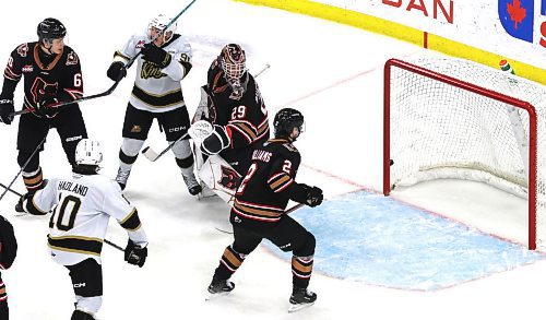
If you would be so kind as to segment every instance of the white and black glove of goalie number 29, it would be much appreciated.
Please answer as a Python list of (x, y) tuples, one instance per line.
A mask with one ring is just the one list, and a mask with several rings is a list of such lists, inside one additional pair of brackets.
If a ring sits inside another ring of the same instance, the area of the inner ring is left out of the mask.
[(188, 132), (197, 144), (201, 144), (201, 151), (207, 155), (218, 154), (232, 143), (224, 127), (217, 125), (213, 127), (205, 120), (199, 120), (191, 125)]

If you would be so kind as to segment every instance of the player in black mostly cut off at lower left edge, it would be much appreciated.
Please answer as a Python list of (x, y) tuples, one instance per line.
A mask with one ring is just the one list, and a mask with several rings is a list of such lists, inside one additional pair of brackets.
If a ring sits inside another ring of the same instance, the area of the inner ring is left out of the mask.
[[(17, 254), (17, 240), (11, 223), (0, 215), (0, 270), (7, 270)], [(0, 276), (0, 319), (9, 319), (8, 294)]]

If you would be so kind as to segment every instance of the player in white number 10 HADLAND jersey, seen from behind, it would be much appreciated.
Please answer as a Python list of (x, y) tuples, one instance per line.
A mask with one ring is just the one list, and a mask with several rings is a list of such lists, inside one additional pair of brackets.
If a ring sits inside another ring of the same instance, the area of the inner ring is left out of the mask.
[(48, 246), (52, 259), (70, 271), (76, 300), (71, 320), (93, 320), (100, 308), (100, 251), (110, 216), (129, 234), (124, 260), (142, 266), (147, 256), (147, 238), (136, 209), (116, 181), (98, 174), (102, 159), (97, 141), (81, 140), (72, 177), (49, 179), (44, 189), (25, 194), (23, 201), (31, 214), (51, 212)]

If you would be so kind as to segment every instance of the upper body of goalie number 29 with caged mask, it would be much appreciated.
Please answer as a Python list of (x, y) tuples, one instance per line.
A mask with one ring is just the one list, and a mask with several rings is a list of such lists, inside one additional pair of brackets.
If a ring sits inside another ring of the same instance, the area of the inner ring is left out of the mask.
[(246, 68), (245, 50), (226, 45), (212, 62), (207, 83), (193, 118), (214, 125), (214, 134), (202, 143), (205, 154), (219, 154), (239, 174), (246, 173), (250, 153), (270, 138), (269, 118), (254, 78)]

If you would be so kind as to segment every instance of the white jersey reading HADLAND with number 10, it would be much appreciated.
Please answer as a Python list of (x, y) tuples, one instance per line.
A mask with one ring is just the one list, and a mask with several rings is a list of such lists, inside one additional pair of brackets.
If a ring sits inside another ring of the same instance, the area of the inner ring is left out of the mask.
[(32, 214), (51, 211), (48, 245), (52, 259), (63, 265), (87, 258), (100, 263), (110, 216), (127, 229), (133, 242), (147, 245), (136, 209), (123, 198), (117, 182), (98, 174), (50, 179), (24, 205)]

